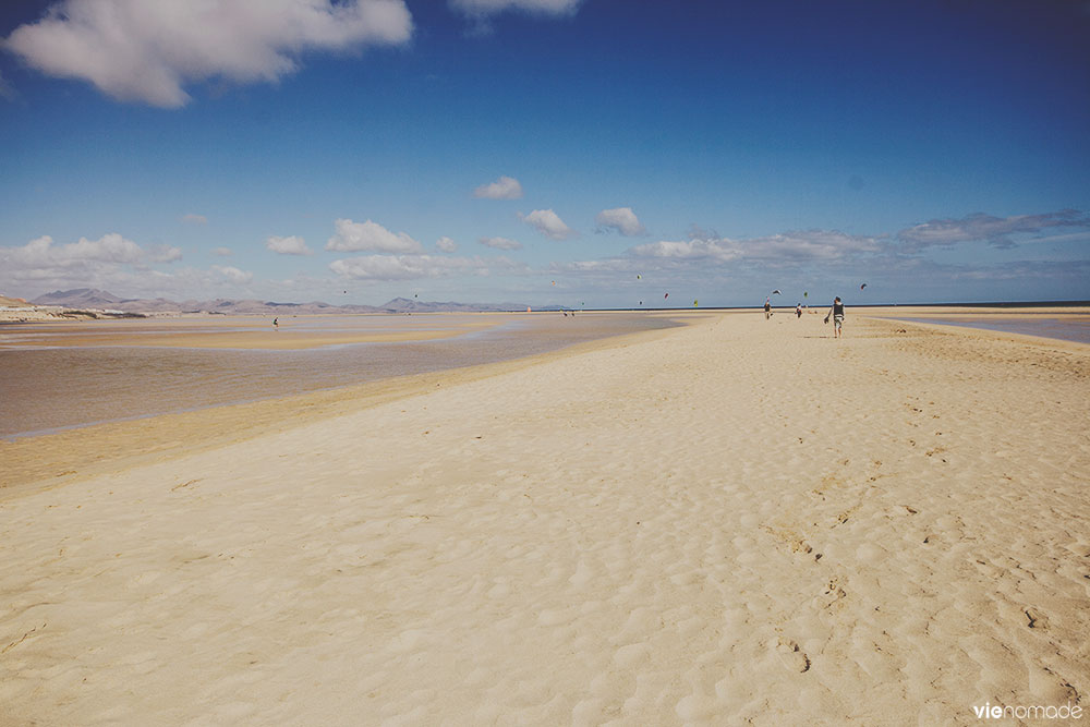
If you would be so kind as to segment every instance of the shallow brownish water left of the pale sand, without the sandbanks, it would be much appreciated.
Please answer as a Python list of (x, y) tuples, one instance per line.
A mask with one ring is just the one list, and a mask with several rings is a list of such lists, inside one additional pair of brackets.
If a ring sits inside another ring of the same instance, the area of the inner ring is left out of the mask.
[[(374, 326), (387, 330), (435, 330), (464, 325), (467, 316), (368, 316), (371, 320), (302, 318), (315, 329)], [(100, 323), (100, 322), (95, 322)], [(117, 322), (119, 324), (124, 322)], [(245, 323), (245, 322), (244, 322)], [(216, 329), (231, 322), (216, 322)], [(267, 326), (263, 322), (261, 325)], [(150, 416), (204, 407), (329, 389), (393, 376), (422, 374), (519, 359), (622, 334), (667, 328), (646, 314), (557, 314), (502, 318), (497, 326), (453, 338), (396, 343), (352, 343), (303, 350), (194, 349), (137, 346), (49, 347), (0, 350), (0, 436), (12, 438), (98, 422)], [(245, 326), (243, 326), (245, 327)], [(29, 327), (28, 327), (29, 328)], [(41, 326), (36, 328), (40, 329)], [(101, 326), (92, 330), (133, 336), (175, 326)], [(88, 327), (80, 326), (80, 335)], [(38, 335), (17, 326), (9, 337)]]

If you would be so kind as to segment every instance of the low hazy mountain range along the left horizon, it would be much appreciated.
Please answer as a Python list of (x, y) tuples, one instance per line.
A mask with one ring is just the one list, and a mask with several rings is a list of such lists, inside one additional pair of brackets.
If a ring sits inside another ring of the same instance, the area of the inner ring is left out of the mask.
[(170, 301), (165, 298), (123, 299), (105, 290), (78, 288), (56, 290), (32, 301), (35, 305), (60, 305), (69, 308), (124, 311), (126, 313), (220, 313), (223, 315), (314, 315), (317, 313), (447, 313), (477, 311), (525, 311), (524, 303), (456, 303), (425, 302), (395, 298), (385, 305), (330, 305), (310, 303), (276, 303), (257, 300)]

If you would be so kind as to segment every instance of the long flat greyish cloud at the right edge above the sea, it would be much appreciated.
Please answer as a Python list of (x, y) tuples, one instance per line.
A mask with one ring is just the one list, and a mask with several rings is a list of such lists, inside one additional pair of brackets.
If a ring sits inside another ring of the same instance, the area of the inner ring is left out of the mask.
[(1029, 234), (1042, 230), (1078, 227), (1090, 229), (1090, 216), (1075, 209), (1064, 209), (1043, 215), (1016, 215), (993, 217), (983, 213), (960, 219), (935, 219), (916, 225), (897, 233), (897, 239), (909, 252), (927, 247), (952, 247), (960, 242), (983, 241), (994, 247), (1015, 247), (1014, 234)]

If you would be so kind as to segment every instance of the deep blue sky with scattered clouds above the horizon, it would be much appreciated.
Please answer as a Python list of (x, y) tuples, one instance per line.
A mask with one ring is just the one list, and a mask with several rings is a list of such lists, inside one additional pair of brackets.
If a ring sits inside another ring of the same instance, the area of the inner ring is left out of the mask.
[(1087, 2), (197, 7), (0, 9), (0, 292), (1090, 299)]

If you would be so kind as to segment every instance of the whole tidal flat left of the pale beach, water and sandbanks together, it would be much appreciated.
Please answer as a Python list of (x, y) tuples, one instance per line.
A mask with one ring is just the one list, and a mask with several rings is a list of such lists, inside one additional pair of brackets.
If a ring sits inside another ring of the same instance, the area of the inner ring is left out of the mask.
[(300, 316), (279, 331), (253, 316), (4, 327), (0, 436), (283, 398), (669, 325), (666, 315), (588, 313)]

